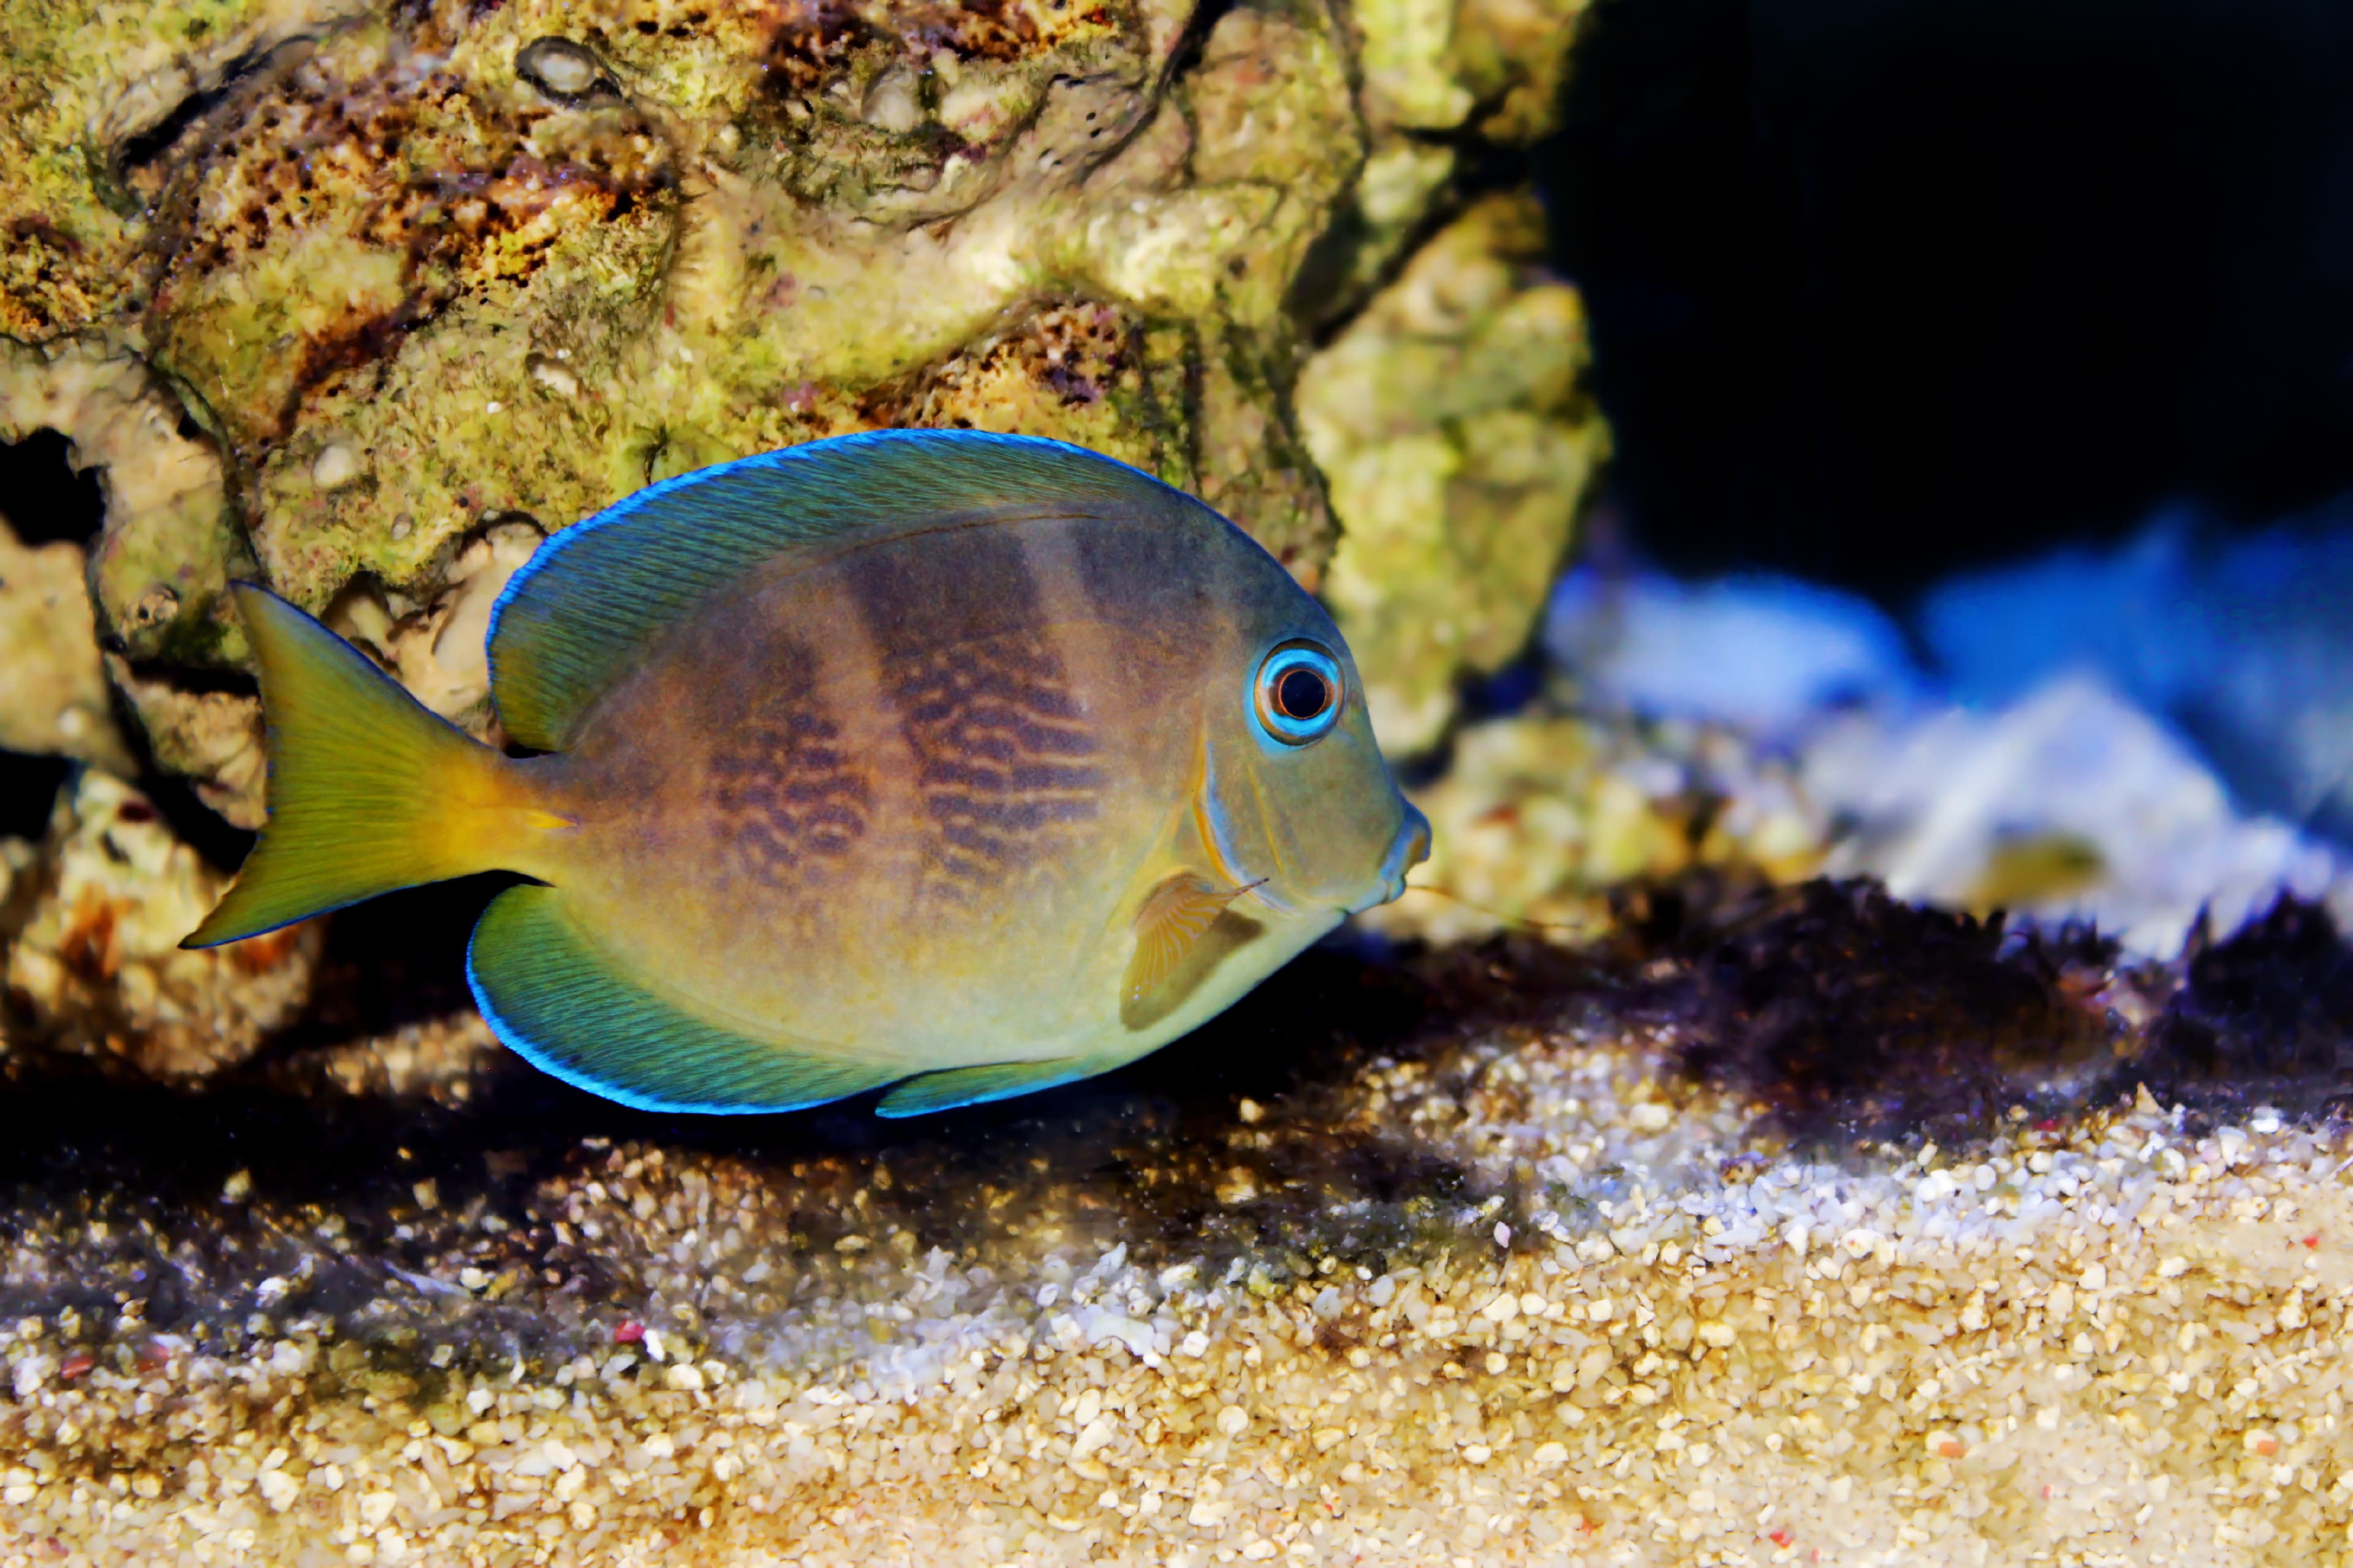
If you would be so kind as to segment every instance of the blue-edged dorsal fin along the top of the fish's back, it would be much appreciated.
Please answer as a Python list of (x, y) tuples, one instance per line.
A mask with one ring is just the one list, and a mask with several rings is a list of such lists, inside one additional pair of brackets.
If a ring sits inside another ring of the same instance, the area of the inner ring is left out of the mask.
[(1082, 447), (984, 430), (838, 435), (664, 480), (555, 534), (499, 595), (499, 719), (522, 745), (562, 750), (671, 625), (793, 550), (1106, 508), (1200, 503)]

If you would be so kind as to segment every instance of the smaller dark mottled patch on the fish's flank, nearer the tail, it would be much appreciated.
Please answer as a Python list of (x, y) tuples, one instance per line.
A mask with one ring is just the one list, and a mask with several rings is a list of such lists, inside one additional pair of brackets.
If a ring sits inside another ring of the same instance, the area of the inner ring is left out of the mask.
[(746, 870), (781, 884), (866, 832), (873, 785), (816, 689), (816, 654), (781, 642), (711, 752), (711, 799)]

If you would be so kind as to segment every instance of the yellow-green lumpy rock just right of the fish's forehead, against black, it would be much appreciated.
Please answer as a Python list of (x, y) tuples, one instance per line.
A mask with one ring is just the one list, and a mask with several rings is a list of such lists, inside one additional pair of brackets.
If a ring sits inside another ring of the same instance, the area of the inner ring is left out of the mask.
[(1435, 743), (1457, 679), (1527, 644), (1607, 449), (1584, 310), (1541, 249), (1532, 200), (1480, 202), (1299, 383), (1346, 529), (1325, 592), (1393, 752)]

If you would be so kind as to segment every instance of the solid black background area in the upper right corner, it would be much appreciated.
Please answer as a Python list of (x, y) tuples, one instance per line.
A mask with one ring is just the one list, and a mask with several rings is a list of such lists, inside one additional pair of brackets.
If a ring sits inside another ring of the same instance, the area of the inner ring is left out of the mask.
[(1539, 153), (1668, 569), (1901, 597), (2353, 487), (2353, 12), (1605, 0)]

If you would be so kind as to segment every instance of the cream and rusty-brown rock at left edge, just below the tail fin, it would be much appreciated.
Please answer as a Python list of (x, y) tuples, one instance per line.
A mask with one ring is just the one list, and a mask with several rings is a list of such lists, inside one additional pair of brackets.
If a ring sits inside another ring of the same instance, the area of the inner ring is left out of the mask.
[(228, 877), (181, 844), (155, 806), (85, 771), (35, 856), (16, 856), (0, 910), (14, 929), (0, 1011), (7, 1051), (45, 1046), (151, 1077), (202, 1077), (254, 1053), (308, 994), (320, 929), (289, 926), (181, 952)]

